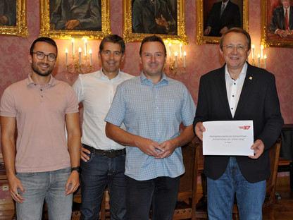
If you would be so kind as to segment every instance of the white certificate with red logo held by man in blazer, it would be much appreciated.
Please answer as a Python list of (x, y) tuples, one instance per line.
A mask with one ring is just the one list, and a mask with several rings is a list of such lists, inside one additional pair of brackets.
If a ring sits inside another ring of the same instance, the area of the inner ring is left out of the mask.
[(254, 144), (252, 121), (206, 121), (203, 125), (204, 155), (254, 155), (250, 149)]

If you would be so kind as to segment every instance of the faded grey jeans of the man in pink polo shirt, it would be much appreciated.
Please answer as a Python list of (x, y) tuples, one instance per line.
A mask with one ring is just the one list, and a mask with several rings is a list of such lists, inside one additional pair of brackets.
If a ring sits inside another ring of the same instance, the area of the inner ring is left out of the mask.
[(71, 168), (39, 173), (16, 173), (23, 184), (25, 194), (18, 193), (25, 199), (23, 204), (16, 204), (18, 220), (40, 220), (43, 204), (46, 200), (50, 220), (70, 220), (73, 194), (65, 195), (66, 182)]

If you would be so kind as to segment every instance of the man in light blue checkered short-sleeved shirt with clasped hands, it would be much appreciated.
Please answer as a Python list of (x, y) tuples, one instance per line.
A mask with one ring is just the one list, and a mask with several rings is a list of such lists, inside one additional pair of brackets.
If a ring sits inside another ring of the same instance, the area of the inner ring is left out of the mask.
[(161, 37), (144, 38), (139, 54), (142, 74), (118, 85), (105, 119), (106, 135), (126, 146), (127, 219), (148, 220), (151, 207), (152, 219), (167, 220), (173, 218), (185, 172), (180, 146), (194, 138), (196, 106), (185, 85), (163, 73)]

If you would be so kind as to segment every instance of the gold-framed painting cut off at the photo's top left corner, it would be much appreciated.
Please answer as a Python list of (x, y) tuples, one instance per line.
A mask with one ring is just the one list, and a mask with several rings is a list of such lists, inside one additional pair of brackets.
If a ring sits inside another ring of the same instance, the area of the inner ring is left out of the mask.
[(0, 17), (5, 16), (5, 24), (0, 24), (0, 35), (29, 36), (27, 31), (26, 0), (3, 1), (0, 9), (4, 13), (3, 15), (0, 14)]

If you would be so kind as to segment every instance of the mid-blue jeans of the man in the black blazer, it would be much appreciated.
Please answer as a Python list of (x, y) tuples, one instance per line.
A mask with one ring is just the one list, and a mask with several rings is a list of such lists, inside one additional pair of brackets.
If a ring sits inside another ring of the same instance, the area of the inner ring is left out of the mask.
[(235, 157), (230, 157), (223, 176), (216, 181), (208, 178), (208, 219), (232, 219), (235, 193), (239, 219), (262, 219), (266, 181), (249, 183), (242, 176)]

